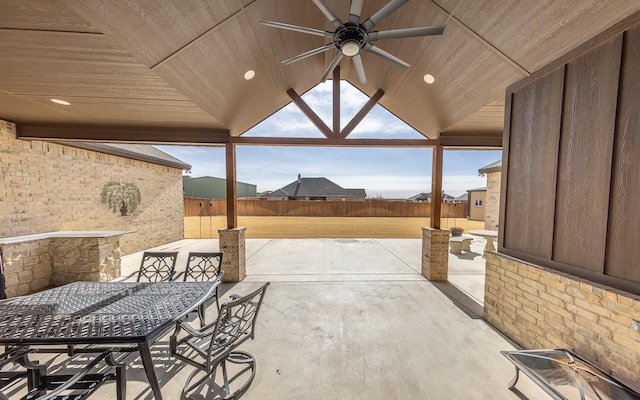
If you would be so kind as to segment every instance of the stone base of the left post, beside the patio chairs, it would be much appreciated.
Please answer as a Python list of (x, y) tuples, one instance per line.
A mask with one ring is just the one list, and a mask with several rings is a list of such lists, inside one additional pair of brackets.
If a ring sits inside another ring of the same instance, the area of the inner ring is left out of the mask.
[(240, 282), (247, 276), (247, 256), (245, 252), (246, 228), (220, 229), (220, 251), (222, 258), (222, 282)]

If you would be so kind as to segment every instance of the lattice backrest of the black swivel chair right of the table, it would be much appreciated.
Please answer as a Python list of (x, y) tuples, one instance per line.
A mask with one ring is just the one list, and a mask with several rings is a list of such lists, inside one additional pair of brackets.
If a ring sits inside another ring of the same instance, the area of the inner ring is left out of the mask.
[(269, 282), (257, 290), (244, 295), (232, 295), (231, 301), (220, 306), (218, 320), (209, 344), (209, 365), (215, 365), (219, 358), (248, 339), (253, 339), (258, 312)]

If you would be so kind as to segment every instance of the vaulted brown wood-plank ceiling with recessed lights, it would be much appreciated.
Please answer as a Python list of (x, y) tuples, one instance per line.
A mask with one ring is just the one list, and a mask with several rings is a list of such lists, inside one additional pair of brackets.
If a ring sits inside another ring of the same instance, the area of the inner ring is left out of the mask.
[[(348, 1), (327, 3), (347, 19)], [(386, 3), (364, 0), (363, 17)], [(239, 136), (288, 104), (287, 90), (313, 88), (334, 55), (282, 65), (325, 39), (258, 23), (333, 30), (311, 0), (0, 0), (0, 9), (0, 119), (18, 127)], [(425, 137), (480, 144), (502, 134), (508, 85), (639, 10), (640, 0), (413, 0), (376, 29), (446, 25), (444, 34), (377, 42), (406, 71), (365, 53), (368, 82), (347, 57), (342, 77), (369, 96), (382, 89), (380, 104)]]

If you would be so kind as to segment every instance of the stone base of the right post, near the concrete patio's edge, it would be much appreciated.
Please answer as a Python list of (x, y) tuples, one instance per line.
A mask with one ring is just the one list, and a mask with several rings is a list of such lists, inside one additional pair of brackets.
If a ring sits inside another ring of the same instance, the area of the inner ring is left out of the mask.
[(446, 281), (449, 273), (449, 230), (422, 228), (422, 276)]

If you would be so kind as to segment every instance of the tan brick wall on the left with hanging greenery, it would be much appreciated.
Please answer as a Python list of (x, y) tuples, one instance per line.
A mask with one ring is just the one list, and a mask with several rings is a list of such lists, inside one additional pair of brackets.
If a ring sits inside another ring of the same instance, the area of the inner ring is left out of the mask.
[[(122, 237), (123, 254), (184, 237), (182, 171), (70, 146), (17, 140), (0, 120), (0, 237), (51, 231), (135, 230)], [(109, 181), (138, 185), (133, 215), (100, 202)]]

